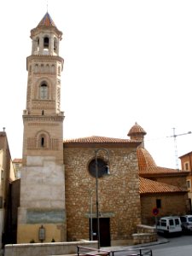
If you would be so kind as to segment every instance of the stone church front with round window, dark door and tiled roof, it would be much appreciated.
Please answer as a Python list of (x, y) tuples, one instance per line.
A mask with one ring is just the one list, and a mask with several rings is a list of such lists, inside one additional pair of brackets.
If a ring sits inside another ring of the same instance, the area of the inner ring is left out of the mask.
[[(91, 230), (93, 240), (97, 240), (98, 190), (101, 246), (131, 244), (131, 235), (141, 224), (138, 144), (108, 137), (64, 141), (68, 241), (91, 240)], [(101, 174), (105, 165), (109, 166), (109, 175)]]

